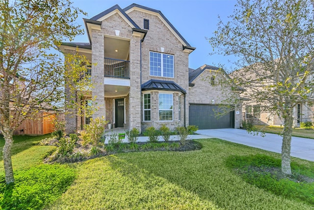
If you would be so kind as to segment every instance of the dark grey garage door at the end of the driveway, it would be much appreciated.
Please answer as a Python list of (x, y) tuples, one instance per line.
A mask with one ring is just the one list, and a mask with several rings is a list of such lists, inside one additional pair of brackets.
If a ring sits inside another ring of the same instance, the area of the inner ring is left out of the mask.
[(217, 128), (233, 128), (234, 112), (217, 118), (216, 112), (219, 110), (218, 105), (209, 104), (190, 104), (189, 106), (189, 124), (197, 125), (199, 129), (217, 129)]

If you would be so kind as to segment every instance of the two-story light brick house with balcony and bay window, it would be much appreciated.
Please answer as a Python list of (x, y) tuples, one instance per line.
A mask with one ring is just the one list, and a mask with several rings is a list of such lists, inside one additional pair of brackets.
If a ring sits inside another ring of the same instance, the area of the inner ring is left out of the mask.
[[(113, 127), (124, 129), (143, 131), (149, 126), (158, 129), (162, 124), (174, 129), (190, 124), (190, 103), (212, 107), (207, 100), (211, 97), (196, 100), (210, 94), (205, 88), (210, 86), (201, 85), (199, 90), (199, 84), (189, 86), (188, 55), (195, 48), (160, 11), (138, 4), (124, 9), (115, 5), (83, 20), (89, 43), (62, 43), (59, 48), (75, 53), (78, 47), (79, 54), (96, 64), (91, 67), (93, 89), (78, 101), (88, 106), (90, 98), (96, 97), (93, 103), (98, 110), (82, 118), (67, 115), (67, 132), (80, 129), (91, 117), (102, 116)], [(199, 75), (193, 80), (198, 81)], [(216, 97), (213, 100), (220, 103)], [(239, 127), (237, 122), (228, 125), (234, 126)]]

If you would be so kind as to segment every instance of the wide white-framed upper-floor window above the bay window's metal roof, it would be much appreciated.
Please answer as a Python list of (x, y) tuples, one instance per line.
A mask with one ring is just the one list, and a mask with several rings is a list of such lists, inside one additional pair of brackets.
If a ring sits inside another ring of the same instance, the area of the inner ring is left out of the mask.
[(150, 52), (150, 75), (159, 77), (174, 77), (174, 56)]

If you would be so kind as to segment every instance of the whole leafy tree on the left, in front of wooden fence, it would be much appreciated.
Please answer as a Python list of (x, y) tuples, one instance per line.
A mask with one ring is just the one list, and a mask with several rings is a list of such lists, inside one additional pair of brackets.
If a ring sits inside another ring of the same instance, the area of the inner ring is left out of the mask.
[(65, 84), (76, 91), (86, 81), (79, 81), (86, 70), (84, 57), (65, 55), (63, 60), (59, 53), (50, 53), (64, 39), (83, 32), (75, 23), (83, 12), (71, 4), (69, 0), (0, 1), (0, 131), (5, 139), (6, 183), (14, 181), (13, 131), (39, 111), (64, 110), (57, 105), (64, 99)]

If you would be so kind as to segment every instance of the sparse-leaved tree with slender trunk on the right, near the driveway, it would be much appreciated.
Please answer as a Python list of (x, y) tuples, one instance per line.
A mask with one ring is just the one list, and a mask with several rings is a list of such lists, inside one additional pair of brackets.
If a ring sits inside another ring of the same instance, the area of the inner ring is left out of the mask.
[[(232, 81), (247, 102), (285, 120), (282, 172), (291, 174), (293, 108), (311, 105), (314, 70), (313, 0), (237, 0), (231, 21), (209, 38), (214, 53), (239, 58)], [(235, 71), (234, 71), (235, 70)], [(245, 102), (244, 102), (245, 103)]]

